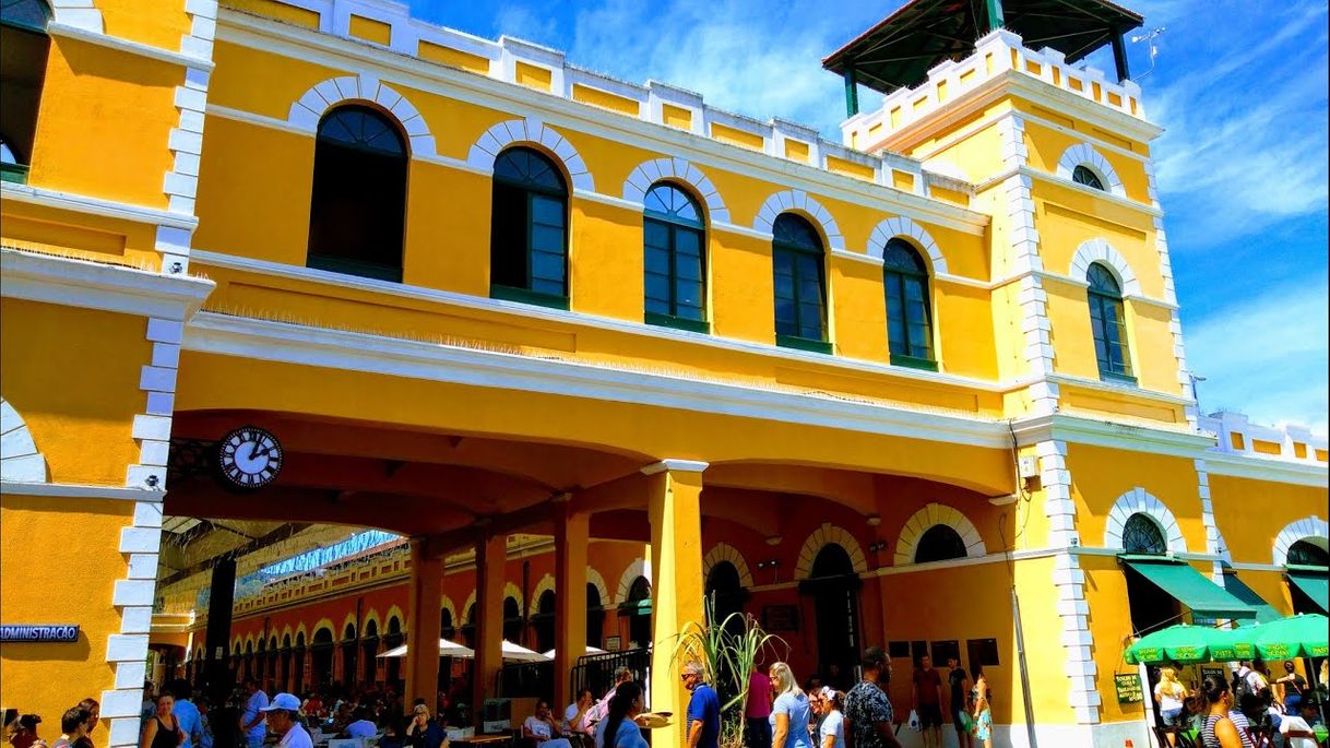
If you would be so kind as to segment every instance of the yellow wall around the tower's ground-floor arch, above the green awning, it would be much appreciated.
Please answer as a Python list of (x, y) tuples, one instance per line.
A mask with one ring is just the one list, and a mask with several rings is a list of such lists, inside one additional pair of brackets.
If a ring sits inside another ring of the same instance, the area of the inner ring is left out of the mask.
[(1083, 546), (1103, 546), (1113, 503), (1141, 487), (1173, 512), (1188, 551), (1208, 552), (1196, 467), (1190, 459), (1133, 453), (1128, 463), (1115, 450), (1073, 443), (1067, 446), (1067, 467), (1072, 472), (1076, 527)]

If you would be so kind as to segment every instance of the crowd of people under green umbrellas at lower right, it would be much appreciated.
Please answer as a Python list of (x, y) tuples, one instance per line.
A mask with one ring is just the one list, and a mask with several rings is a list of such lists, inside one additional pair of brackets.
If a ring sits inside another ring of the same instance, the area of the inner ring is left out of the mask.
[(1157, 668), (1150, 680), (1160, 732), (1170, 747), (1198, 735), (1204, 748), (1317, 748), (1327, 664), (1322, 661), (1315, 688), (1291, 660), (1278, 675), (1261, 660), (1241, 661), (1232, 679), (1208, 675), (1196, 685), (1180, 677), (1180, 668)]

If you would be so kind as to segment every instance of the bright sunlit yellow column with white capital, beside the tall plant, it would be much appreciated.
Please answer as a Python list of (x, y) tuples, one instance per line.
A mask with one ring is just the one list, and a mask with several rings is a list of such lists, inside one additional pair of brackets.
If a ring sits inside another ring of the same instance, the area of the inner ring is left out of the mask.
[(684, 744), (688, 691), (678, 680), (674, 646), (688, 622), (702, 623), (702, 470), (705, 462), (666, 459), (642, 468), (649, 483), (652, 524), (652, 692), (650, 708), (673, 712), (670, 727), (653, 732), (652, 745)]

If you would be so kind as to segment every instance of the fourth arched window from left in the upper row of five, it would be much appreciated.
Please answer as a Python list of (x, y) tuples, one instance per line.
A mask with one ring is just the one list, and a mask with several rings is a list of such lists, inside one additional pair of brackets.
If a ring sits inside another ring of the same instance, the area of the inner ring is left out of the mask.
[(777, 345), (831, 353), (826, 341), (822, 238), (811, 224), (793, 213), (777, 216), (771, 234)]

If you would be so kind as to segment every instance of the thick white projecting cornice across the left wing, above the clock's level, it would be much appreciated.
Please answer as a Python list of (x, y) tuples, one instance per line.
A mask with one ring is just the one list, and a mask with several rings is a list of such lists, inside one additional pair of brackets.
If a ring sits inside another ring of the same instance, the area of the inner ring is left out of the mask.
[(189, 318), (215, 287), (206, 278), (8, 248), (0, 249), (0, 294), (7, 297), (166, 319)]

